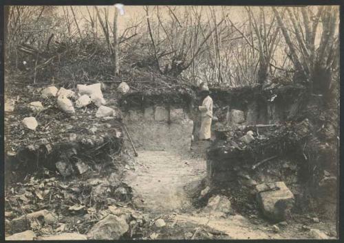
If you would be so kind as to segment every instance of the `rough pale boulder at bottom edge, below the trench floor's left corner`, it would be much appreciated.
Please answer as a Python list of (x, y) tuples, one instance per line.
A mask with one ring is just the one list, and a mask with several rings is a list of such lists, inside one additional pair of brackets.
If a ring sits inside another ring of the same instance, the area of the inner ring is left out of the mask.
[(125, 218), (109, 214), (87, 233), (90, 240), (119, 240), (129, 230)]

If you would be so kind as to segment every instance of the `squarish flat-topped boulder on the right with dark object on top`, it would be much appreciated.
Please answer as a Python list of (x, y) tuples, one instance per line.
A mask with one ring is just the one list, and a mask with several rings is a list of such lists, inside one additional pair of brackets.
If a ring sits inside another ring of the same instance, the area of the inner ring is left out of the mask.
[(283, 181), (256, 186), (257, 202), (264, 216), (275, 222), (286, 220), (294, 205), (294, 195)]

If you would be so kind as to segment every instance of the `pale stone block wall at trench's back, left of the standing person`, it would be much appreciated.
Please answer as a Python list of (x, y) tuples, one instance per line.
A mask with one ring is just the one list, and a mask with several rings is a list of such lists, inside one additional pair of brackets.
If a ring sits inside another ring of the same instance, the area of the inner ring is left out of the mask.
[(185, 108), (148, 106), (122, 112), (138, 150), (190, 150), (193, 120)]

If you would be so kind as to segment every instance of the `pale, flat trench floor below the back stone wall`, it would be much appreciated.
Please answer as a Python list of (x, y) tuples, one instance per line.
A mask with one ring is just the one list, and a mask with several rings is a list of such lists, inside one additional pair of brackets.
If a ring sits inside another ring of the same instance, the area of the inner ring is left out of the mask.
[(149, 213), (171, 213), (192, 209), (184, 186), (206, 175), (204, 159), (193, 159), (166, 151), (138, 152), (135, 171), (126, 183), (133, 187), (134, 202)]

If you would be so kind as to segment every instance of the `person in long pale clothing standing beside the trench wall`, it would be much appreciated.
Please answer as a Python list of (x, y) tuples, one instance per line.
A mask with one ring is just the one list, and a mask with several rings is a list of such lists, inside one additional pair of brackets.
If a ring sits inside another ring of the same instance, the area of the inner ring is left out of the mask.
[(210, 140), (211, 139), (211, 119), (213, 118), (213, 99), (209, 96), (208, 86), (202, 85), (201, 87), (201, 98), (203, 100), (202, 106), (198, 106), (201, 112), (202, 122), (199, 132), (200, 139)]

